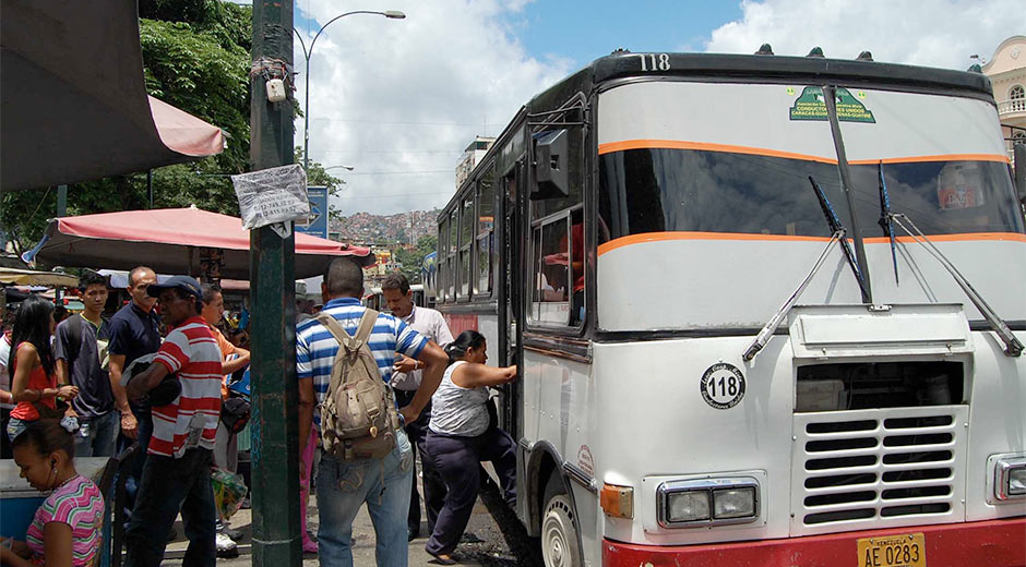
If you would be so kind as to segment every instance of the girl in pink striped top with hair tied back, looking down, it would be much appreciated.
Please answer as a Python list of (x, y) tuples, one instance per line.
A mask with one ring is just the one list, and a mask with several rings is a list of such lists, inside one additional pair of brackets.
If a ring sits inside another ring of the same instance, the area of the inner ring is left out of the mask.
[(14, 567), (93, 567), (104, 527), (104, 496), (75, 471), (74, 437), (56, 420), (37, 420), (14, 442), (21, 476), (50, 495), (36, 510), (24, 542), (0, 546), (0, 562)]

